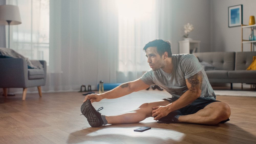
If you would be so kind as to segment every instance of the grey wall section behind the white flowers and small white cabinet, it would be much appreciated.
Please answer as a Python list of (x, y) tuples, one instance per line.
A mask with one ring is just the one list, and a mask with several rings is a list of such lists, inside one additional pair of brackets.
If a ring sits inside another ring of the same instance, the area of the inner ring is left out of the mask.
[(200, 51), (210, 51), (210, 0), (172, 1), (172, 52), (179, 53), (178, 41), (184, 40), (184, 25), (193, 24), (189, 34), (193, 40), (200, 40)]

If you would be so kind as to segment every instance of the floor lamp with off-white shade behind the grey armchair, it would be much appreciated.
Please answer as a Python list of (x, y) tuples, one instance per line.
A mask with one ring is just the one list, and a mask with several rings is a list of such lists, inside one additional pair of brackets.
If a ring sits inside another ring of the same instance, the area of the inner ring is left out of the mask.
[[(10, 25), (21, 24), (19, 7), (15, 5), (0, 5), (0, 24), (8, 25), (8, 48), (10, 48)], [(15, 95), (9, 93), (7, 95)]]

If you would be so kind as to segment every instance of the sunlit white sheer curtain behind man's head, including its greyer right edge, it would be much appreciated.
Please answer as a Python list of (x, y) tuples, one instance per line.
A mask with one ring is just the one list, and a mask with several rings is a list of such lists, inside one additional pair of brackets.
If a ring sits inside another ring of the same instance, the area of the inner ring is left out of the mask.
[(158, 38), (170, 40), (171, 2), (130, 0), (116, 3), (119, 19), (118, 76), (121, 74), (119, 80), (122, 82), (132, 81), (150, 70), (142, 50), (145, 44)]

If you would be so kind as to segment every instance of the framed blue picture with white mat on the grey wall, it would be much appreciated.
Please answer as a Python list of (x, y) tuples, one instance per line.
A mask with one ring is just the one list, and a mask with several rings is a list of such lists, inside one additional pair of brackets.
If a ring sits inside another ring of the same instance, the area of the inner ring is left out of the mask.
[(228, 27), (241, 26), (243, 24), (243, 5), (228, 7)]

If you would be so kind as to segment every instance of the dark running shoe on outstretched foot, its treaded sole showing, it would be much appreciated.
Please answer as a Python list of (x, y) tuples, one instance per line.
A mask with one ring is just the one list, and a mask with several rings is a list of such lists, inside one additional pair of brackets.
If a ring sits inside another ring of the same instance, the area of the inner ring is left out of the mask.
[(81, 113), (87, 118), (91, 127), (99, 127), (103, 125), (103, 120), (101, 118), (101, 113), (98, 112), (103, 107), (96, 110), (93, 106), (91, 101), (88, 99), (84, 102), (81, 106)]

